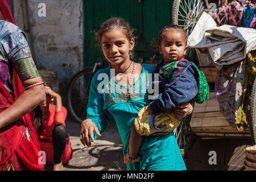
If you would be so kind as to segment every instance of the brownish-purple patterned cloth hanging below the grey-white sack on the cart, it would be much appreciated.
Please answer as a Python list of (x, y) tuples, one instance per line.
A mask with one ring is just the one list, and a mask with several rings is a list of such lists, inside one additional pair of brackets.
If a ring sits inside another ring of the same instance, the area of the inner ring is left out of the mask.
[(237, 129), (237, 110), (245, 82), (245, 68), (245, 60), (233, 64), (226, 70), (222, 68), (218, 71), (215, 82), (215, 93), (220, 104), (220, 111), (234, 129)]

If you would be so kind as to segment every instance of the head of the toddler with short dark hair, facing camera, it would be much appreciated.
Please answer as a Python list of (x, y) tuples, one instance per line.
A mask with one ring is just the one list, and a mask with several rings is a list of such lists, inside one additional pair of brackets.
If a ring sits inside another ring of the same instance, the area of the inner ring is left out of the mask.
[(186, 54), (188, 49), (185, 43), (184, 32), (174, 28), (165, 30), (158, 48), (159, 52), (163, 54), (165, 62), (178, 61)]

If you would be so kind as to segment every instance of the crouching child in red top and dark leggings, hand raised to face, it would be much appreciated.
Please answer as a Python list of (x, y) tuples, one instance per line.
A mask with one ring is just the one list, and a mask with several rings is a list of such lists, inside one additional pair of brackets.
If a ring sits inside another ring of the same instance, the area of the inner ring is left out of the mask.
[[(39, 140), (53, 143), (53, 171), (59, 171), (63, 169), (62, 158), (68, 138), (65, 129), (67, 109), (62, 105), (60, 95), (53, 92), (51, 85), (45, 82), (44, 88), (46, 90), (46, 100), (34, 110), (34, 126)], [(52, 104), (53, 100), (56, 100), (56, 105)]]

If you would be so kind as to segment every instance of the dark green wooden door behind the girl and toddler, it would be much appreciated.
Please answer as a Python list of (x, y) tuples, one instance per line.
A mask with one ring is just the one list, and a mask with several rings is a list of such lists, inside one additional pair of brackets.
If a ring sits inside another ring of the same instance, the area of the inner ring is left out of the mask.
[[(143, 56), (146, 63), (154, 52), (146, 51), (146, 46), (156, 45), (158, 32), (171, 24), (173, 0), (84, 0), (85, 67), (92, 66), (103, 56), (94, 38), (93, 27), (100, 27), (105, 20), (119, 16), (135, 28), (135, 61)], [(160, 58), (160, 57), (158, 57)]]

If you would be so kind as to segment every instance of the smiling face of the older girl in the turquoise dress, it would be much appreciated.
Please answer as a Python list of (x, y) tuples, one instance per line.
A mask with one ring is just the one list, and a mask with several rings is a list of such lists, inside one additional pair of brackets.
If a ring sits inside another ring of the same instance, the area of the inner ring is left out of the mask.
[(133, 50), (134, 39), (129, 41), (120, 28), (105, 32), (101, 38), (101, 49), (112, 65), (120, 65), (130, 60), (129, 51)]

